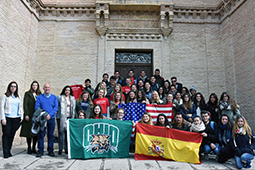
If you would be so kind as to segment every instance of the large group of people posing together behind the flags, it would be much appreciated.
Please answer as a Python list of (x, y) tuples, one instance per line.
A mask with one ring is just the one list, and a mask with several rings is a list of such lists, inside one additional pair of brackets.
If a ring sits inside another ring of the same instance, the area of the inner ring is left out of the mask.
[[(250, 162), (254, 158), (253, 132), (240, 114), (239, 106), (226, 92), (222, 93), (219, 100), (215, 93), (210, 94), (206, 103), (202, 93), (197, 92), (194, 86), (188, 90), (177, 82), (176, 77), (172, 77), (170, 83), (160, 76), (159, 69), (150, 78), (144, 70), (140, 71), (139, 79), (134, 76), (133, 70), (129, 70), (125, 79), (120, 76), (119, 71), (115, 71), (110, 81), (107, 73), (102, 77), (102, 82), (95, 89), (91, 86), (91, 80), (86, 79), (84, 91), (77, 100), (70, 86), (65, 86), (57, 97), (51, 93), (48, 83), (43, 86), (42, 93), (37, 81), (31, 83), (30, 90), (22, 100), (18, 94), (18, 84), (14, 81), (9, 83), (1, 100), (4, 158), (12, 156), (12, 142), (20, 125), (20, 136), (27, 139), (27, 153), (35, 153), (36, 157), (43, 156), (47, 128), (48, 155), (54, 157), (55, 119), (58, 127), (58, 154), (61, 155), (63, 149), (65, 153), (68, 152), (67, 119), (122, 120), (125, 111), (119, 108), (119, 104), (139, 102), (172, 107), (175, 116), (173, 122), (169, 122), (164, 114), (159, 114), (155, 125), (201, 133), (203, 141), (200, 156), (203, 153), (204, 159), (208, 159), (208, 154), (214, 152), (221, 163), (235, 158), (237, 168), (251, 166)], [(32, 135), (30, 130), (33, 114), (38, 108), (47, 112), (44, 117), (47, 127), (38, 135)], [(140, 122), (152, 125), (150, 114), (144, 113)], [(37, 142), (38, 151), (35, 148)]]

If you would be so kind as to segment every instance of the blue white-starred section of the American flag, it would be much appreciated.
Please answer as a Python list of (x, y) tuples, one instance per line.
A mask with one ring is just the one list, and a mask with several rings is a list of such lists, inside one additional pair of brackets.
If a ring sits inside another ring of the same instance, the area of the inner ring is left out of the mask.
[(143, 103), (120, 103), (119, 108), (125, 110), (123, 120), (133, 120), (134, 122), (139, 121), (145, 112), (145, 104)]

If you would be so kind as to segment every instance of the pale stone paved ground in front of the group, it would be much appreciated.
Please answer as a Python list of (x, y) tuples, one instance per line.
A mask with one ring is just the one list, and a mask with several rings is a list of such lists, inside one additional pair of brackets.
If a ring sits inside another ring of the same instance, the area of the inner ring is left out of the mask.
[[(214, 169), (236, 169), (234, 164), (227, 162), (219, 164), (210, 155), (209, 161), (203, 161), (201, 165), (174, 162), (174, 161), (136, 161), (134, 153), (126, 159), (67, 159), (67, 155), (57, 155), (57, 145), (54, 153), (55, 158), (49, 157), (47, 152), (42, 158), (36, 158), (35, 154), (28, 155), (26, 146), (16, 146), (12, 149), (13, 157), (4, 159), (0, 150), (0, 169), (74, 169), (74, 170), (214, 170)], [(255, 161), (253, 160), (253, 165)], [(252, 167), (251, 169), (255, 169)]]

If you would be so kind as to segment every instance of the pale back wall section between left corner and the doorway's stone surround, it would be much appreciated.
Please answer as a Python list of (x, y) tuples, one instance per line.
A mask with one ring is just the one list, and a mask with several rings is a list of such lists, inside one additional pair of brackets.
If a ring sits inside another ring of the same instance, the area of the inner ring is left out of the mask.
[(97, 81), (95, 22), (40, 22), (35, 77), (59, 95), (66, 85)]

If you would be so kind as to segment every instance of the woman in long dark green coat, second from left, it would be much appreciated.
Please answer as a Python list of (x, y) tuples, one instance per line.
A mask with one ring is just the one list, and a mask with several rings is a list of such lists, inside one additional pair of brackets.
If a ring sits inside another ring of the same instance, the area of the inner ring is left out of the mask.
[[(20, 137), (26, 137), (27, 139), (27, 153), (37, 153), (35, 146), (37, 143), (38, 136), (32, 136), (30, 133), (32, 126), (32, 117), (35, 112), (35, 101), (36, 97), (42, 94), (40, 91), (40, 86), (37, 81), (33, 81), (30, 85), (29, 91), (25, 93), (23, 108), (24, 108), (24, 118), (21, 127)], [(31, 149), (31, 141), (33, 139), (33, 147)]]

